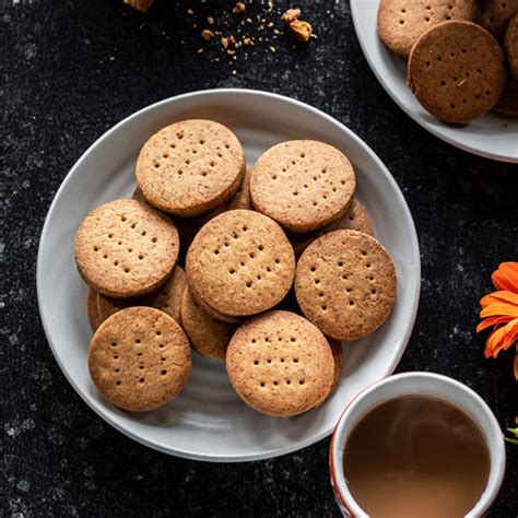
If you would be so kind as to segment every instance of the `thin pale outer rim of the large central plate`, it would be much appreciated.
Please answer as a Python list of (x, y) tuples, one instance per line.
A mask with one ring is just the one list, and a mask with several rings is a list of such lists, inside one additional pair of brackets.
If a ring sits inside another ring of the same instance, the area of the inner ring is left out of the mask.
[(170, 447), (165, 447), (158, 442), (154, 442), (149, 439), (145, 435), (138, 435), (134, 433), (132, 429), (129, 429), (122, 425), (120, 425), (118, 422), (114, 421), (111, 416), (104, 411), (104, 409), (101, 405), (97, 405), (96, 402), (87, 396), (86, 392), (84, 392), (72, 379), (67, 369), (64, 368), (64, 364), (61, 361), (52, 341), (50, 340), (50, 330), (48, 327), (48, 322), (46, 321), (45, 318), (45, 303), (43, 301), (43, 286), (42, 286), (42, 271), (44, 268), (43, 264), (43, 249), (44, 245), (46, 242), (47, 234), (49, 233), (49, 221), (51, 219), (51, 215), (57, 209), (58, 200), (60, 198), (61, 192), (64, 190), (66, 186), (68, 185), (69, 181), (71, 181), (75, 170), (82, 165), (82, 162), (87, 157), (87, 155), (97, 146), (103, 143), (105, 139), (107, 139), (111, 133), (114, 133), (120, 126), (129, 122), (131, 119), (140, 117), (141, 115), (145, 114), (146, 111), (152, 111), (156, 108), (160, 108), (160, 106), (168, 104), (168, 103), (174, 103), (174, 102), (181, 102), (186, 98), (196, 98), (196, 97), (203, 97), (203, 96), (214, 96), (214, 95), (220, 95), (220, 94), (226, 94), (226, 95), (251, 95), (251, 96), (260, 96), (260, 97), (267, 97), (270, 99), (275, 99), (278, 102), (283, 102), (286, 104), (291, 104), (293, 106), (296, 106), (298, 108), (306, 109), (313, 114), (315, 114), (318, 117), (321, 117), (329, 121), (330, 123), (334, 125), (341, 132), (346, 133), (348, 138), (354, 141), (355, 144), (360, 145), (363, 148), (374, 160), (376, 163), (377, 167), (379, 167), (381, 170), (384, 170), (387, 180), (389, 184), (392, 185), (396, 196), (398, 198), (398, 202), (402, 209), (402, 212), (404, 213), (404, 217), (409, 223), (410, 227), (410, 235), (409, 235), (409, 240), (412, 242), (412, 250), (415, 254), (415, 273), (416, 273), (416, 279), (417, 282), (414, 283), (410, 287), (411, 292), (411, 313), (409, 314), (409, 325), (407, 326), (404, 332), (402, 333), (400, 338), (400, 348), (398, 351), (398, 354), (393, 356), (393, 361), (386, 366), (385, 372), (380, 373), (379, 379), (384, 379), (388, 376), (390, 376), (395, 370), (396, 367), (398, 366), (399, 362), (401, 361), (402, 355), (404, 354), (407, 346), (409, 344), (411, 334), (414, 329), (414, 323), (415, 319), (417, 316), (417, 309), (419, 309), (419, 302), (420, 302), (420, 296), (421, 296), (421, 252), (420, 252), (420, 245), (419, 245), (419, 238), (417, 238), (417, 232), (415, 228), (415, 223), (412, 217), (412, 213), (409, 209), (409, 205), (407, 203), (407, 200), (399, 188), (396, 179), (391, 175), (391, 173), (388, 170), (388, 168), (385, 166), (385, 164), (381, 162), (381, 160), (378, 157), (378, 155), (370, 149), (370, 146), (363, 141), (356, 133), (354, 133), (352, 130), (350, 130), (346, 126), (344, 126), (342, 122), (337, 120), (334, 117), (326, 114), (325, 111), (315, 108), (311, 105), (308, 105), (306, 103), (303, 103), (298, 99), (287, 97), (284, 95), (275, 94), (272, 92), (266, 92), (266, 91), (260, 91), (260, 90), (250, 90), (250, 89), (235, 89), (235, 87), (227, 87), (227, 89), (208, 89), (208, 90), (200, 90), (200, 91), (195, 91), (195, 92), (188, 92), (179, 95), (175, 95), (172, 97), (167, 97), (165, 99), (158, 101), (156, 103), (153, 103), (151, 105), (148, 105), (129, 116), (125, 117), (122, 120), (114, 125), (111, 128), (109, 128), (107, 131), (105, 131), (101, 137), (98, 137), (78, 158), (78, 161), (74, 163), (74, 165), (70, 168), (70, 170), (67, 173), (66, 177), (62, 179), (59, 188), (57, 189), (56, 193), (54, 195), (52, 201), (49, 205), (47, 215), (45, 217), (45, 223), (42, 228), (42, 233), (39, 236), (39, 245), (38, 245), (38, 254), (37, 254), (37, 261), (36, 261), (36, 293), (37, 293), (37, 301), (38, 301), (38, 310), (39, 310), (39, 317), (42, 321), (42, 326), (44, 328), (45, 337), (47, 339), (47, 343), (52, 352), (52, 355), (61, 369), (61, 373), (64, 375), (64, 378), (68, 380), (68, 382), (71, 385), (71, 387), (74, 389), (74, 391), (80, 396), (80, 398), (89, 405), (90, 409), (92, 409), (102, 420), (104, 420), (106, 423), (108, 423), (111, 427), (117, 429), (118, 432), (122, 433), (127, 437), (136, 440), (137, 443), (146, 446), (149, 448), (152, 448), (154, 450), (185, 458), (185, 459), (190, 459), (190, 460), (198, 460), (198, 461), (208, 461), (208, 462), (247, 462), (247, 461), (254, 461), (254, 460), (266, 460), (266, 459), (271, 459), (284, 455), (289, 455), (295, 451), (299, 451), (308, 446), (311, 446), (320, 440), (322, 440), (326, 437), (329, 437), (332, 434), (334, 425), (332, 425), (329, 429), (325, 429), (323, 432), (311, 435), (310, 437), (306, 438), (305, 440), (301, 440), (297, 443), (294, 443), (290, 447), (281, 448), (281, 449), (275, 449), (275, 450), (263, 450), (260, 452), (252, 452), (250, 455), (242, 455), (242, 454), (236, 454), (236, 455), (220, 455), (215, 454), (212, 456), (208, 456), (207, 454), (196, 454), (191, 450), (185, 450), (185, 449), (175, 449)]

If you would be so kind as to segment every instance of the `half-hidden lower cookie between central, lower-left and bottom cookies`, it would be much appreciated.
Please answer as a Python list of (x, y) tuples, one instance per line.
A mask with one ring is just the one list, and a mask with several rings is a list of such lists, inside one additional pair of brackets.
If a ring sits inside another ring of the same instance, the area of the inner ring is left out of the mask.
[(200, 307), (189, 290), (184, 292), (181, 302), (181, 325), (198, 354), (225, 360), (226, 346), (236, 327), (214, 320)]

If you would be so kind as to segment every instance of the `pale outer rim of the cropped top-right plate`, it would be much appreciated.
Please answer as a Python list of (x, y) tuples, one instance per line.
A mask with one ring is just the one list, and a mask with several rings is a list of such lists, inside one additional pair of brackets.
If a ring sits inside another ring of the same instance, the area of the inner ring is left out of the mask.
[[(377, 0), (379, 3), (379, 0)], [(513, 156), (509, 154), (502, 154), (502, 153), (496, 153), (496, 152), (484, 152), (479, 149), (476, 149), (473, 145), (466, 144), (464, 142), (459, 142), (459, 140), (456, 140), (454, 138), (448, 137), (444, 132), (440, 131), (440, 129), (432, 126), (428, 123), (426, 120), (422, 120), (417, 117), (417, 115), (412, 111), (412, 109), (408, 108), (404, 103), (400, 99), (400, 97), (396, 94), (395, 90), (390, 87), (391, 83), (389, 83), (384, 74), (381, 73), (382, 71), (374, 63), (374, 59), (370, 55), (369, 51), (367, 51), (367, 45), (365, 38), (362, 36), (362, 31), (360, 31), (360, 11), (361, 7), (366, 5), (368, 0), (350, 0), (350, 7), (351, 7), (351, 17), (353, 20), (353, 26), (354, 26), (354, 33), (356, 34), (356, 39), (360, 43), (360, 47), (362, 49), (362, 52), (368, 63), (368, 67), (370, 68), (372, 72), (374, 73), (375, 78), (378, 80), (378, 83), (384, 87), (385, 92), (389, 95), (389, 97), (397, 104), (397, 106), (404, 113), (407, 114), (414, 122), (416, 122), (419, 126), (421, 126), (424, 130), (428, 131), (432, 133), (434, 137), (437, 137), (440, 139), (443, 142), (446, 142), (447, 144), (452, 145), (454, 148), (457, 148), (459, 150), (462, 150), (467, 153), (471, 153), (476, 156), (482, 156), (483, 158), (488, 158), (497, 162), (505, 162), (509, 164), (517, 164), (518, 163), (518, 156)], [(374, 3), (374, 2), (372, 2)]]

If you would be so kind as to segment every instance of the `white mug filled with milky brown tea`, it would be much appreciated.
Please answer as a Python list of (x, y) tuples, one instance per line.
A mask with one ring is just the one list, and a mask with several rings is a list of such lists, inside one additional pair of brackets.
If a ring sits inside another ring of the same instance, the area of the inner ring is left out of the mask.
[(479, 518), (504, 479), (504, 438), (467, 386), (438, 374), (399, 374), (346, 407), (330, 470), (346, 517)]

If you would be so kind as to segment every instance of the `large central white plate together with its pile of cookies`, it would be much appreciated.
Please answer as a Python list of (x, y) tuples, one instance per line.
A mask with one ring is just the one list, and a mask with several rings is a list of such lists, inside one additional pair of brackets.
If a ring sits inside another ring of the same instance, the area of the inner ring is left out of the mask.
[(37, 292), (70, 384), (166, 454), (271, 458), (328, 436), (390, 375), (417, 310), (404, 198), (348, 128), (213, 90), (138, 111), (59, 188)]

